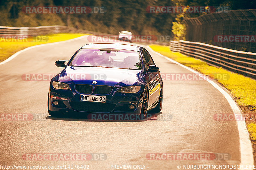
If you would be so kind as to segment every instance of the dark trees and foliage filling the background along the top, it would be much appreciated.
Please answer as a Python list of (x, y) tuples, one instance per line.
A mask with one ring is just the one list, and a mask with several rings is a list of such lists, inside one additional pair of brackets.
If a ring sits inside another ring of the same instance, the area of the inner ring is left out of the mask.
[[(184, 19), (202, 14), (148, 13), (148, 6), (230, 6), (232, 10), (256, 8), (253, 0), (5, 0), (0, 1), (1, 26), (66, 25), (79, 29), (117, 34), (121, 30), (134, 35), (175, 35), (183, 39)], [(41, 14), (24, 13), (26, 6), (104, 7), (105, 13)], [(177, 15), (177, 16), (176, 16)], [(175, 19), (176, 18), (176, 19)], [(179, 21), (178, 21), (178, 20)]]

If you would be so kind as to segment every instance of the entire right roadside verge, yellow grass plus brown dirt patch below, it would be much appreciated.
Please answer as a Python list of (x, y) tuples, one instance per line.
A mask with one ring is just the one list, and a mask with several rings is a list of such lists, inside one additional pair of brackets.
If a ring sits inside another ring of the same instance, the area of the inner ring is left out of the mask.
[[(170, 51), (167, 46), (150, 45), (154, 51), (167, 56), (183, 65), (197, 70), (223, 85), (236, 99), (237, 104), (241, 107), (244, 115), (250, 115), (249, 119), (245, 119), (248, 132), (252, 141), (254, 163), (256, 163), (256, 81), (243, 75), (233, 73), (214, 66), (206, 64), (199, 59), (188, 57), (179, 52)], [(216, 78), (218, 73), (228, 74), (229, 78)]]

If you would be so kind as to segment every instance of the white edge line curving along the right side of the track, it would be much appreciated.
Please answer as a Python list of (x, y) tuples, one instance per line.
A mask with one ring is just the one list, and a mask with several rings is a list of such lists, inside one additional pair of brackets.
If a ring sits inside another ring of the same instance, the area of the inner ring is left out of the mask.
[[(183, 64), (180, 64), (154, 50), (152, 50), (152, 48), (150, 48), (149, 46), (147, 46), (147, 48), (149, 48), (152, 52), (154, 52), (157, 55), (160, 55), (162, 57), (164, 57), (165, 59), (169, 60), (172, 63), (178, 64), (179, 66), (188, 69), (189, 71), (196, 73), (196, 74), (201, 74), (199, 72), (197, 72), (196, 70), (193, 70)], [(208, 81), (211, 85), (213, 85), (213, 87), (215, 87), (228, 101), (230, 107), (233, 110), (234, 115), (235, 114), (243, 114), (240, 112), (239, 108), (236, 105), (236, 102), (232, 99), (232, 97), (225, 92), (219, 85), (217, 85), (215, 82), (213, 82), (212, 80), (209, 80), (209, 78), (206, 78), (205, 76), (203, 76), (203, 78)], [(237, 128), (238, 128), (238, 133), (239, 133), (239, 142), (240, 142), (240, 170), (243, 170), (244, 168), (242, 167), (246, 167), (246, 165), (254, 165), (254, 160), (253, 160), (253, 154), (252, 154), (252, 143), (249, 137), (249, 132), (246, 128), (245, 125), (245, 121), (236, 121), (237, 122)], [(250, 167), (250, 166), (249, 166)], [(252, 167), (253, 169), (253, 167)], [(252, 169), (248, 169), (248, 170), (252, 170)]]

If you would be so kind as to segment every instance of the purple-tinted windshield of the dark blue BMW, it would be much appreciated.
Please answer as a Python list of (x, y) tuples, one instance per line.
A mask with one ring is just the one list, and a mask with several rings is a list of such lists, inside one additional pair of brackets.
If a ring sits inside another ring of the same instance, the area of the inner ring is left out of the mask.
[(84, 48), (80, 49), (69, 66), (110, 67), (141, 70), (138, 51)]

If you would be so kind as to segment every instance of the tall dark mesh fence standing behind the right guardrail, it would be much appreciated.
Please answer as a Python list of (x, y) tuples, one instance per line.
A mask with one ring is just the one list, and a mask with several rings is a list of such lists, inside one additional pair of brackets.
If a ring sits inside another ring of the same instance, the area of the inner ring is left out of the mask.
[(256, 52), (256, 9), (215, 12), (197, 18), (188, 18), (184, 22), (187, 41)]

